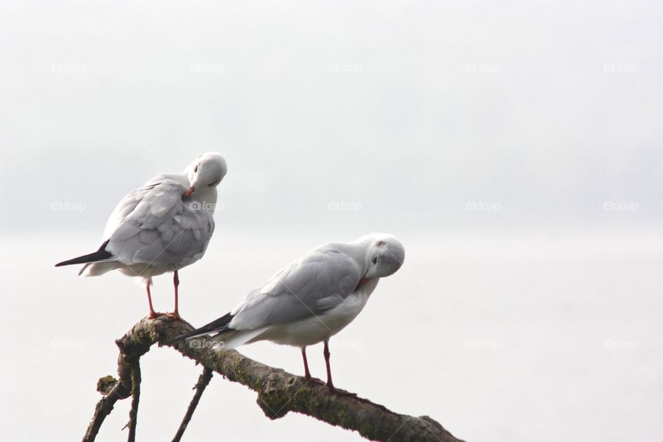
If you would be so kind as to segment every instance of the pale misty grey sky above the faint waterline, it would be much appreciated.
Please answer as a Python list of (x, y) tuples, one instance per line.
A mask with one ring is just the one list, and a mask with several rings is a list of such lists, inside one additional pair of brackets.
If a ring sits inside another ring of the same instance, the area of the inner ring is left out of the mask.
[(149, 177), (220, 151), (230, 227), (652, 229), (660, 12), (3, 2), (0, 195), (23, 215), (0, 225), (101, 229)]

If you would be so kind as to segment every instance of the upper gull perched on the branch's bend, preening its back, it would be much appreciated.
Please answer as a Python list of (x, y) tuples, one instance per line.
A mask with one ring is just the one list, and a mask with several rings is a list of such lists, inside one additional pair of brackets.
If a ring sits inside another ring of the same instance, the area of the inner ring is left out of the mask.
[(140, 278), (147, 288), (149, 318), (164, 315), (152, 307), (152, 277), (173, 271), (175, 310), (166, 315), (180, 319), (177, 271), (205, 253), (214, 231), (216, 186), (226, 171), (226, 160), (219, 153), (208, 152), (182, 173), (153, 177), (115, 206), (97, 251), (55, 267), (84, 264), (79, 276), (99, 276), (117, 269)]

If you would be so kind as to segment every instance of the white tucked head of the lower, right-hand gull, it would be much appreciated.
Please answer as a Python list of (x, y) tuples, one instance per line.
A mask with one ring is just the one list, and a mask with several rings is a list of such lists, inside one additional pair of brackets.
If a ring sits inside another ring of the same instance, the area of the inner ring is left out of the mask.
[(384, 278), (396, 273), (405, 260), (403, 244), (388, 233), (372, 233), (362, 238), (368, 242), (365, 278)]

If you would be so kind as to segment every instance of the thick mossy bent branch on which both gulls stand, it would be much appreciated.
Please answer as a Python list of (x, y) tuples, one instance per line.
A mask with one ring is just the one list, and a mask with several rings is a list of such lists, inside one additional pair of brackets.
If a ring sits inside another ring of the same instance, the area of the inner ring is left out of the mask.
[[(94, 440), (104, 418), (113, 410), (115, 401), (131, 394), (131, 361), (148, 352), (153, 344), (164, 345), (191, 329), (191, 325), (167, 317), (155, 320), (144, 318), (115, 341), (120, 349), (120, 379), (116, 385), (111, 383), (113, 387), (108, 396), (97, 403), (84, 442)], [(330, 392), (325, 385), (253, 361), (235, 350), (218, 352), (208, 344), (204, 338), (198, 338), (178, 341), (169, 346), (206, 369), (257, 392), (256, 402), (269, 419), (297, 412), (347, 430), (355, 430), (365, 438), (376, 441), (461, 442), (428, 416), (397, 414), (352, 394)], [(108, 379), (108, 376), (103, 379)]]

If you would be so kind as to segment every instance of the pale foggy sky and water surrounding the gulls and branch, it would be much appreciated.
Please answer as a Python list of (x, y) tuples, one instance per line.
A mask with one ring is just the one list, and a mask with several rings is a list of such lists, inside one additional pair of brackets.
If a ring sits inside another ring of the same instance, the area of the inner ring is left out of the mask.
[[(648, 2), (0, 2), (0, 423), (79, 439), (115, 338), (147, 313), (99, 247), (115, 204), (228, 162), (202, 325), (318, 244), (393, 233), (406, 260), (332, 342), (334, 383), (467, 441), (657, 441), (662, 10)], [(157, 310), (173, 308), (155, 278)], [(298, 349), (240, 352), (302, 373)], [(324, 378), (322, 347), (308, 351)], [(138, 439), (200, 374), (142, 358)], [(184, 440), (356, 441), (215, 376)], [(129, 401), (97, 440), (126, 437)], [(398, 440), (398, 434), (394, 435)]]

